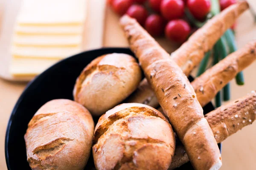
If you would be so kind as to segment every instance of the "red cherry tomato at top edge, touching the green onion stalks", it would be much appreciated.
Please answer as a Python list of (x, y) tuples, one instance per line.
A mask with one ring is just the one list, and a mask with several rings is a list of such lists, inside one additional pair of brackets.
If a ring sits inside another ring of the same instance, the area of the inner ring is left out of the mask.
[(187, 6), (196, 19), (203, 20), (211, 10), (211, 0), (188, 0)]

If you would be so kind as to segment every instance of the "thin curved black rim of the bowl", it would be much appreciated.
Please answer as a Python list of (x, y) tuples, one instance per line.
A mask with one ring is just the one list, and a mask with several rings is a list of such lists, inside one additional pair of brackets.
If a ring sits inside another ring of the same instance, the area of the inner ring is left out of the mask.
[[(82, 52), (80, 52), (78, 54), (74, 54), (74, 55), (72, 55), (70, 57), (67, 57), (65, 59), (61, 59), (60, 61), (56, 62), (54, 65), (52, 65), (49, 68), (47, 68), (41, 74), (37, 75), (34, 79), (32, 79), (26, 85), (26, 87), (24, 88), (23, 92), (20, 94), (19, 98), (17, 99), (17, 102), (15, 103), (15, 106), (12, 109), (12, 112), (11, 112), (11, 114), (9, 116), (8, 124), (7, 124), (7, 127), (6, 127), (4, 149), (5, 149), (6, 166), (7, 166), (8, 170), (11, 170), (11, 167), (10, 167), (11, 165), (10, 165), (10, 162), (9, 162), (8, 143), (9, 143), (9, 133), (10, 133), (11, 125), (12, 125), (12, 119), (15, 116), (15, 113), (17, 111), (17, 108), (20, 105), (20, 102), (23, 100), (24, 95), (26, 94), (26, 91), (30, 88), (30, 86), (33, 84), (33, 82), (35, 82), (37, 79), (40, 79), (40, 77), (44, 76), (44, 74), (47, 74), (49, 71), (52, 70), (53, 67), (55, 67), (56, 65), (61, 64), (61, 62), (65, 62), (65, 61), (69, 60), (70, 58), (77, 57), (77, 56), (80, 56), (80, 55), (83, 55), (83, 54), (86, 54), (86, 53), (92, 53), (92, 52), (102, 51), (102, 50), (103, 51), (104, 50), (106, 50), (106, 51), (107, 50), (113, 50), (113, 51), (115, 51), (115, 50), (119, 50), (119, 51), (124, 50), (125, 51), (125, 50), (130, 50), (130, 48), (126, 48), (126, 47), (102, 47), (102, 48), (96, 48), (96, 49), (92, 49), (92, 50), (82, 51)], [(221, 143), (219, 143), (219, 148), (220, 148), (220, 152), (221, 152), (221, 150), (222, 150), (222, 144)]]

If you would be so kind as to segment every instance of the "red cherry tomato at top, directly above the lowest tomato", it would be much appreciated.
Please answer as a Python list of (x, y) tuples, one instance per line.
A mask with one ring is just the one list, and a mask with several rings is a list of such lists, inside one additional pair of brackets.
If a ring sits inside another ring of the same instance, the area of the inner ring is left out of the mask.
[(163, 0), (160, 9), (166, 20), (177, 19), (184, 15), (184, 3), (182, 0)]

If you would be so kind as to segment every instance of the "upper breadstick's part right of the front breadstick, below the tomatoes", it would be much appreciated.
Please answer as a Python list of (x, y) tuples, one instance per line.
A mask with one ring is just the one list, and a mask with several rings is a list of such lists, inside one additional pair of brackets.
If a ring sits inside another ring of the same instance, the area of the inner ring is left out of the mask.
[(192, 34), (180, 48), (171, 54), (171, 59), (188, 76), (192, 69), (201, 62), (204, 54), (212, 49), (213, 45), (215, 45), (224, 32), (248, 8), (249, 5), (246, 1), (238, 2), (226, 8)]

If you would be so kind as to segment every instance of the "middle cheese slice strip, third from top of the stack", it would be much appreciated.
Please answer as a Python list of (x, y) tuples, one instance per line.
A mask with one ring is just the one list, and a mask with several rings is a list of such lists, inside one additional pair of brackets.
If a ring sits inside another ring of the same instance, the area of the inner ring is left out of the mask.
[(18, 46), (66, 47), (79, 46), (81, 35), (15, 35), (13, 43)]

